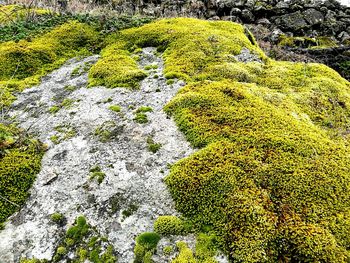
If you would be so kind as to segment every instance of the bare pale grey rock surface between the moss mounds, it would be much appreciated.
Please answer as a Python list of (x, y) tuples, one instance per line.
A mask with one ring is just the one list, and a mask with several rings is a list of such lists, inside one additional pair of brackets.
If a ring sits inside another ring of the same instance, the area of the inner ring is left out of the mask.
[[(81, 69), (97, 61), (92, 56), (69, 61), (39, 86), (18, 95), (11, 115), (49, 148), (29, 200), (0, 232), (0, 262), (50, 259), (79, 215), (108, 237), (118, 262), (132, 262), (135, 236), (152, 231), (159, 215), (177, 214), (163, 178), (169, 164), (193, 149), (162, 108), (184, 83), (166, 84), (155, 49), (146, 48), (140, 56), (141, 67), (152, 64), (157, 69), (149, 72), (139, 90), (87, 88), (87, 73)], [(50, 113), (57, 105), (60, 109)], [(110, 110), (111, 105), (121, 111)], [(133, 120), (141, 106), (153, 110), (146, 113), (145, 124)], [(158, 152), (148, 150), (147, 138), (162, 145)], [(101, 184), (90, 178), (93, 166), (106, 175)], [(131, 205), (136, 211), (123, 215)], [(54, 212), (66, 217), (66, 226), (51, 222)], [(191, 240), (194, 237), (186, 237)]]

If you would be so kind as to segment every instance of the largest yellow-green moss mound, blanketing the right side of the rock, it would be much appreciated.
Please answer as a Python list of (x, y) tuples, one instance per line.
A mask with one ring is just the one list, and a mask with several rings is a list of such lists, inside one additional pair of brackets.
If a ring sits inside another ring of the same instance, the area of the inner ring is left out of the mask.
[[(202, 149), (166, 183), (197, 229), (233, 262), (350, 259), (348, 81), (324, 65), (267, 59), (230, 22), (166, 19), (115, 39), (106, 50), (129, 58), (158, 47), (166, 76), (188, 83), (165, 110)], [(242, 48), (263, 63), (237, 62)]]

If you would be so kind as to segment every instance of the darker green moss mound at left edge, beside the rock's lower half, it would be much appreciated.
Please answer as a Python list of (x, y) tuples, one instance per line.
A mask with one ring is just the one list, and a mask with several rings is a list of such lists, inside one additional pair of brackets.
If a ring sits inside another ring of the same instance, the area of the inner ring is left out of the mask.
[(14, 126), (0, 124), (0, 223), (24, 204), (43, 153), (38, 141)]

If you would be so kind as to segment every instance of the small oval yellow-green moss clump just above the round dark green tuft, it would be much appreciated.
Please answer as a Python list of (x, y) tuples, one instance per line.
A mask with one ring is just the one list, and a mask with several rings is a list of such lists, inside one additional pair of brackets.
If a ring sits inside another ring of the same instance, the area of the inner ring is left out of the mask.
[(181, 235), (184, 233), (183, 221), (176, 216), (159, 216), (154, 222), (154, 231), (160, 235)]

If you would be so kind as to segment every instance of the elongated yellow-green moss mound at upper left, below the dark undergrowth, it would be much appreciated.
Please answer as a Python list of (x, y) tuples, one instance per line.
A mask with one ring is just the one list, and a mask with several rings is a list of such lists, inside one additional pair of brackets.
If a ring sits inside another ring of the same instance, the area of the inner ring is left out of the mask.
[(11, 103), (12, 93), (39, 82), (40, 77), (79, 54), (89, 54), (98, 40), (92, 27), (68, 22), (33, 41), (0, 44), (0, 106)]

